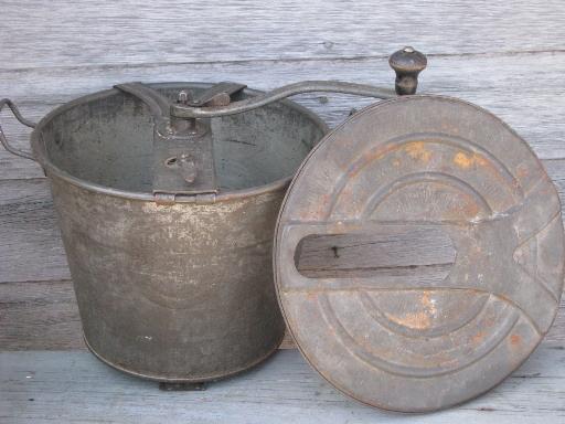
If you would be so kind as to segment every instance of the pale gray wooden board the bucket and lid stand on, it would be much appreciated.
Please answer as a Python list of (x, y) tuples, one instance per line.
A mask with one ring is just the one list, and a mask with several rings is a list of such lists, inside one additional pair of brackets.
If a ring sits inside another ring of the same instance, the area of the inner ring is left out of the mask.
[(565, 422), (565, 348), (542, 344), (486, 395), (434, 414), (361, 405), (322, 380), (297, 350), (201, 392), (163, 392), (87, 352), (1, 352), (2, 423), (454, 423)]

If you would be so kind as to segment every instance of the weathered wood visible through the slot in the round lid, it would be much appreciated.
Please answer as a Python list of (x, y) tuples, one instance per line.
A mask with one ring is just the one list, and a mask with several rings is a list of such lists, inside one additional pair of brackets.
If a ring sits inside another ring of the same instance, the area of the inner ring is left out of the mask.
[(441, 283), (457, 255), (443, 230), (414, 225), (309, 235), (296, 252), (298, 272), (310, 278), (395, 276), (406, 287), (416, 287), (420, 280)]

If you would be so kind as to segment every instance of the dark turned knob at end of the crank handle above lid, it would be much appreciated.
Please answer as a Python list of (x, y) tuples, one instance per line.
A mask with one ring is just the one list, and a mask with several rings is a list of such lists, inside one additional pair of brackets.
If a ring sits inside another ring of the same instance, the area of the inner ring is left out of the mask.
[(414, 47), (406, 46), (394, 52), (388, 59), (388, 64), (396, 73), (396, 94), (404, 96), (416, 93), (418, 74), (426, 68), (428, 60)]

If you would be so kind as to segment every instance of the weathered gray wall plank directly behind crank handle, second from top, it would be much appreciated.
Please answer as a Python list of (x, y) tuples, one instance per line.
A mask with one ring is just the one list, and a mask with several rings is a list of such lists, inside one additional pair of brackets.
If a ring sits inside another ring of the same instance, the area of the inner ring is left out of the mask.
[[(565, 53), (518, 54), (503, 57), (431, 57), (422, 74), (422, 92), (457, 96), (477, 103), (507, 120), (542, 158), (565, 158), (565, 120), (557, 112), (563, 97), (555, 84), (565, 74)], [(51, 108), (81, 95), (128, 81), (239, 81), (270, 89), (282, 84), (333, 78), (371, 84), (394, 84), (386, 59), (352, 61), (252, 62), (206, 64), (159, 64), (150, 67), (118, 66), (32, 71), (0, 71), (0, 94), (21, 105), (22, 113), (39, 120)], [(353, 96), (310, 95), (298, 102), (319, 113), (331, 126), (341, 123), (352, 107), (371, 99)], [(8, 112), (2, 126), (20, 148), (29, 146), (29, 128), (17, 124)], [(14, 158), (0, 149), (0, 179), (38, 178), (32, 161)]]

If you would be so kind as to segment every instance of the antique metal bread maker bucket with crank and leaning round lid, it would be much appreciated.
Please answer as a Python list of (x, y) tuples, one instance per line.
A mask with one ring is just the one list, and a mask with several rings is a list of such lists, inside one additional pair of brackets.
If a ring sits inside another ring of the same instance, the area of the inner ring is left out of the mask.
[[(415, 95), (426, 62), (394, 53), (394, 91), (121, 84), (38, 125), (2, 100), (34, 127), (33, 153), (0, 141), (51, 180), (89, 349), (202, 382), (265, 359), (286, 321), (335, 388), (411, 412), (508, 377), (557, 311), (559, 200), (495, 116)], [(308, 92), (385, 100), (327, 134), (284, 99)]]

